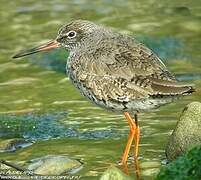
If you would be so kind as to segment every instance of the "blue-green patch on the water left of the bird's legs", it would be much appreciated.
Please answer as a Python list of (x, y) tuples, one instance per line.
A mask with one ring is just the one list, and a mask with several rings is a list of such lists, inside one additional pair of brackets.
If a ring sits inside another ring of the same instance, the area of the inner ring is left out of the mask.
[[(115, 135), (114, 130), (77, 130), (77, 124), (65, 126), (59, 122), (67, 118), (67, 112), (27, 115), (1, 115), (0, 137), (23, 137), (28, 140), (77, 137), (80, 139), (102, 139)], [(116, 135), (115, 135), (116, 136)]]

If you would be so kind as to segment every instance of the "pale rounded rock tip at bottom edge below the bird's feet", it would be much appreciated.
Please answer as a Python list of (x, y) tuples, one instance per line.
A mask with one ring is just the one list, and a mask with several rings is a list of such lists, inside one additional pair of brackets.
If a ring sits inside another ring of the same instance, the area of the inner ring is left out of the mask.
[(111, 167), (103, 173), (100, 180), (131, 180), (131, 178), (124, 174), (120, 169)]

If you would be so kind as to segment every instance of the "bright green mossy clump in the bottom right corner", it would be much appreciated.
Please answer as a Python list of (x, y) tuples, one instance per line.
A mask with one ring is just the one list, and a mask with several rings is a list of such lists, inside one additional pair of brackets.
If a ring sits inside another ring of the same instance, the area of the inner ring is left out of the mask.
[(157, 180), (200, 180), (201, 145), (161, 168)]

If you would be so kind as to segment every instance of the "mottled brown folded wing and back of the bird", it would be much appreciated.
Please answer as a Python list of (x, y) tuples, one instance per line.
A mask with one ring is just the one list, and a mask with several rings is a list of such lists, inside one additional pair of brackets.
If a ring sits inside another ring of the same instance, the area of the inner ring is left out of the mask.
[[(178, 82), (162, 61), (143, 44), (103, 46), (82, 56), (80, 76), (100, 96), (125, 101), (156, 95), (180, 95), (192, 87)], [(90, 60), (89, 60), (90, 59)]]

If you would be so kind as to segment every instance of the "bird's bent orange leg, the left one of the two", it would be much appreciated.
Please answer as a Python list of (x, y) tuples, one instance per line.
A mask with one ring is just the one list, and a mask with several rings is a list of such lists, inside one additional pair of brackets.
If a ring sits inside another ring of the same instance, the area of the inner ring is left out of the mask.
[[(135, 133), (136, 133), (136, 128), (137, 128), (136, 123), (135, 123), (135, 121), (133, 121), (133, 119), (130, 116), (130, 114), (128, 112), (125, 112), (124, 115), (125, 115), (128, 123), (129, 123), (130, 133), (129, 133), (129, 136), (128, 136), (128, 141), (127, 141), (127, 144), (126, 144), (126, 148), (125, 148), (123, 156), (122, 156), (121, 164), (125, 164), (127, 159), (128, 159), (128, 154), (129, 154), (129, 151), (130, 151), (134, 136), (135, 136), (135, 139), (136, 139)], [(138, 143), (139, 143), (139, 141), (138, 141)], [(137, 151), (135, 151), (135, 152), (137, 152)]]

